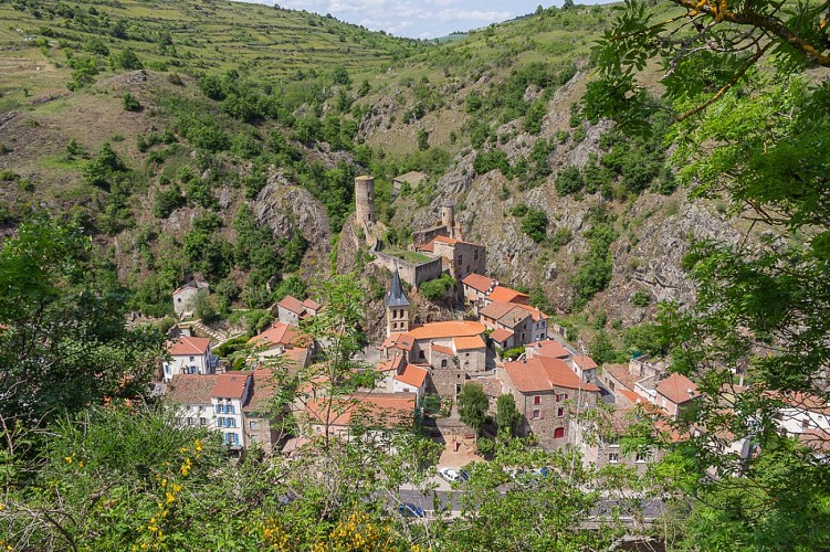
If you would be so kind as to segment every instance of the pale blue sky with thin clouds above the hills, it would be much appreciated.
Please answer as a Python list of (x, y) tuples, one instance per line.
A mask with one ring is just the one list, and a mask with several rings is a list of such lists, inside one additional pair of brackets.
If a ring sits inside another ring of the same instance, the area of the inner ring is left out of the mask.
[[(274, 0), (249, 0), (274, 4)], [(545, 8), (561, 6), (539, 0), (277, 0), (282, 8), (330, 13), (340, 21), (364, 25), (372, 31), (386, 31), (396, 36), (434, 39), (453, 31), (467, 31), (525, 15), (539, 3)], [(598, 3), (582, 0), (577, 3)]]

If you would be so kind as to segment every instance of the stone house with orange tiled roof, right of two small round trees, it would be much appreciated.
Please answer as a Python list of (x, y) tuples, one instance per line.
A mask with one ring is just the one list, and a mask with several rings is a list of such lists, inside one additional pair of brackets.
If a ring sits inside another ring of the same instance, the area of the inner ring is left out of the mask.
[(561, 359), (506, 362), (500, 374), (524, 417), (521, 432), (546, 448), (567, 443), (569, 421), (597, 404), (599, 388), (580, 380)]

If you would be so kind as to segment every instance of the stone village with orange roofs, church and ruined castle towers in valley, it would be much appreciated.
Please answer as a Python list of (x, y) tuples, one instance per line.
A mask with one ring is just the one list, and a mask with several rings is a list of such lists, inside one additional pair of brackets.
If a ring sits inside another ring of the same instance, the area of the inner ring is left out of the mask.
[[(660, 459), (659, 450), (627, 454), (621, 449), (619, 436), (642, 416), (650, 416), (669, 440), (690, 437), (680, 435), (670, 422), (694, 408), (698, 391), (692, 380), (670, 373), (665, 362), (648, 357), (599, 367), (581, 342), (568, 342), (563, 328), (529, 305), (528, 295), (486, 275), (486, 248), (464, 241), (452, 203), (441, 206), (435, 226), (413, 232), (411, 252), (417, 255), (409, 256), (416, 261), (410, 262), (406, 255), (384, 251), (385, 229), (375, 216), (372, 179), (358, 177), (355, 192), (354, 224), (372, 262), (390, 275), (384, 299), (385, 339), (356, 355), (370, 362), (377, 384), (338, 397), (334, 415), (324, 415), (318, 396), (295, 400), (283, 412), (274, 412), (280, 382), (270, 367), (277, 362), (290, 371), (314, 373), (319, 343), (303, 326), (326, 308), (313, 298), (286, 296), (272, 307), (273, 325), (249, 340), (251, 353), (243, 370), (222, 370), (211, 338), (190, 335), (187, 328), (168, 343), (158, 389), (179, 423), (220, 432), (237, 454), (256, 446), (265, 454), (291, 455), (301, 454), (316, 436), (364, 435), (353, 432), (358, 424), (388, 433), (414, 422), (443, 446), (437, 467), (455, 474), (449, 478), (458, 477), (470, 461), (482, 460), (479, 437), (495, 438), (498, 431), (493, 423), (471, 427), (461, 420), (459, 397), (470, 385), (486, 396), (488, 420), (496, 415), (498, 397), (509, 395), (519, 415), (516, 436), (532, 437), (546, 450), (577, 449), (586, 466), (620, 464), (643, 473)], [(466, 306), (466, 318), (459, 312), (452, 319), (413, 323), (405, 283), (417, 288), (442, 275), (456, 283), (454, 293)], [(185, 314), (204, 287), (195, 280), (177, 289), (177, 314)], [(736, 385), (732, 391), (742, 389)], [(809, 445), (813, 436), (830, 429), (830, 410), (820, 401), (782, 399), (782, 432)], [(298, 421), (295, 431), (285, 431), (287, 415)], [(718, 439), (723, 454), (742, 458), (753, 454), (748, 438)]]

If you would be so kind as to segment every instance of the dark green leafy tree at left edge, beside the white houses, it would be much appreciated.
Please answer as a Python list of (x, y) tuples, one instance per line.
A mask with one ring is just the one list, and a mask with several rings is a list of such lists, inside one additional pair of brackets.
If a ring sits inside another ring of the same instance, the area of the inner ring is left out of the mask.
[(135, 396), (160, 358), (78, 227), (36, 215), (0, 250), (0, 416), (34, 422)]

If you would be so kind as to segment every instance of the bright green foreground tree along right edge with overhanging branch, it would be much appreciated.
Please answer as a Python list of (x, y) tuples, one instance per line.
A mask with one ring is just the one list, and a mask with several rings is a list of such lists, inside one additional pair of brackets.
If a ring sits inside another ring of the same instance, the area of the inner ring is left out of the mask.
[[(810, 3), (674, 3), (687, 11), (652, 24), (642, 4), (627, 2), (597, 49), (601, 78), (586, 112), (643, 134), (638, 121), (671, 109), (679, 182), (729, 205), (749, 229), (738, 243), (693, 243), (684, 267), (696, 301), (665, 305), (660, 317), (672, 370), (697, 384), (696, 407), (676, 428), (704, 428), (672, 464), (693, 497), (685, 538), (775, 550), (786, 532), (805, 550), (824, 548), (828, 513), (812, 505), (830, 499), (827, 470), (780, 427), (785, 405), (830, 400), (830, 86), (799, 75), (830, 66), (824, 15)], [(635, 84), (652, 57), (666, 70), (662, 105)], [(738, 378), (752, 385), (736, 390)], [(750, 454), (723, 454), (734, 443)], [(712, 469), (721, 477), (703, 476)], [(786, 521), (796, 519), (822, 529)]]

